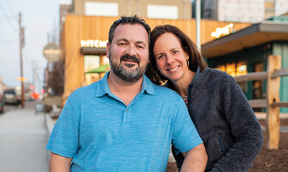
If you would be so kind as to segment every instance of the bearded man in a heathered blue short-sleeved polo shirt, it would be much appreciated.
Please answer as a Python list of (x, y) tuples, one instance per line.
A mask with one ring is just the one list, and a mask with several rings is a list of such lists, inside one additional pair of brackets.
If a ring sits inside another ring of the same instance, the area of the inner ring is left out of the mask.
[(46, 147), (50, 172), (165, 172), (171, 143), (185, 156), (181, 171), (204, 171), (207, 155), (184, 101), (144, 75), (150, 32), (136, 15), (113, 23), (111, 70), (67, 98)]

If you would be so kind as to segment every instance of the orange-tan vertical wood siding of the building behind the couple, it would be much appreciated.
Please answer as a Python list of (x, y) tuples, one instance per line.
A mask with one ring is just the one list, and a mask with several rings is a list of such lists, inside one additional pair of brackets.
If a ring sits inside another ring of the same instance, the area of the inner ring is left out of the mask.
[[(80, 52), (80, 41), (86, 39), (108, 40), (110, 26), (118, 17), (100, 17), (85, 15), (67, 15), (64, 29), (61, 32), (62, 60), (65, 61), (65, 85), (62, 96), (63, 103), (77, 88), (82, 87), (84, 78), (84, 54)], [(191, 20), (147, 19), (147, 24), (155, 26), (171, 24), (179, 27), (194, 42), (196, 41), (196, 22)], [(201, 44), (212, 41), (211, 32), (217, 27), (223, 27), (230, 22), (201, 20)], [(247, 23), (234, 23), (234, 31), (250, 26)]]

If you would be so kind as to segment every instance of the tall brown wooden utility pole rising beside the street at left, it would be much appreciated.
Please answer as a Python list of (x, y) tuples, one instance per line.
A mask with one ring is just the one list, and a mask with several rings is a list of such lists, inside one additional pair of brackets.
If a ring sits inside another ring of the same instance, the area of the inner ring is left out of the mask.
[(22, 88), (22, 93), (21, 93), (21, 106), (24, 108), (24, 83), (23, 83), (23, 60), (22, 60), (22, 47), (24, 44), (24, 37), (23, 37), (23, 28), (21, 26), (21, 13), (19, 13), (19, 36), (20, 36), (20, 70), (21, 70), (21, 88)]

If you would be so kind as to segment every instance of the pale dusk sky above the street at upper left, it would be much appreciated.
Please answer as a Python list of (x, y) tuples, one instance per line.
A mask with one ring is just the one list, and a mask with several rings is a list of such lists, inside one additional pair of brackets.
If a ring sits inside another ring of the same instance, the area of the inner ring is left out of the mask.
[[(59, 40), (60, 3), (72, 0), (0, 0), (0, 75), (7, 87), (20, 86), (20, 48), (18, 13), (22, 14), (25, 46), (22, 49), (23, 75), (26, 82), (33, 81), (33, 61), (38, 64), (38, 77), (44, 83), (47, 60), (42, 50), (47, 44), (47, 34), (56, 30), (56, 44)], [(51, 36), (50, 36), (51, 38)], [(40, 89), (40, 88), (39, 88)]]

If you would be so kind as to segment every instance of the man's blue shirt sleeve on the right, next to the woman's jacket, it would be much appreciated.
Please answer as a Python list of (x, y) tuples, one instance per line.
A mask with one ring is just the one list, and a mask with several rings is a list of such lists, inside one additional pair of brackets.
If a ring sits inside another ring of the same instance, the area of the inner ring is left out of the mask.
[[(180, 97), (181, 98), (181, 97)], [(187, 152), (195, 146), (203, 143), (196, 127), (194, 126), (185, 102), (182, 98), (175, 110), (175, 121), (173, 125), (172, 145), (181, 153)], [(175, 150), (176, 152), (178, 152)]]

